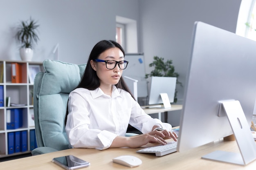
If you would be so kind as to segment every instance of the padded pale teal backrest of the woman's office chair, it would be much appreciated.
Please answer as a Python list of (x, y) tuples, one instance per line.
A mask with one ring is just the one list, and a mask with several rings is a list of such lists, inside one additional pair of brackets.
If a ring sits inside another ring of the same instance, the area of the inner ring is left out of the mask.
[(45, 60), (34, 79), (34, 121), (38, 147), (69, 147), (65, 115), (69, 93), (79, 84), (86, 64)]

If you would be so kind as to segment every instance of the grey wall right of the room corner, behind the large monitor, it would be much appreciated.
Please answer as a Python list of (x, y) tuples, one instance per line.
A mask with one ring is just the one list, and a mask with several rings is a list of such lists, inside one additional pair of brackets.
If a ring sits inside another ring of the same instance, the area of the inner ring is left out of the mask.
[[(146, 73), (153, 56), (173, 60), (179, 81), (185, 85), (195, 21), (202, 21), (227, 31), (236, 31), (241, 0), (139, 0), (139, 40), (144, 52)], [(177, 86), (182, 104), (184, 87)], [(181, 111), (168, 114), (168, 123), (178, 126)], [(157, 117), (157, 115), (154, 115)], [(163, 120), (163, 117), (162, 117)]]

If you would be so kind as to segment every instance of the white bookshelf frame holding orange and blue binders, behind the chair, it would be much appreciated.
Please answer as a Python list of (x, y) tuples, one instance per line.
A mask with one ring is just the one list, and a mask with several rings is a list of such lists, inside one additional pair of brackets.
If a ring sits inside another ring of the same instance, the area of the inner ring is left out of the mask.
[[(22, 65), (22, 82), (11, 83), (11, 64), (18, 63)], [(8, 157), (13, 155), (20, 155), (31, 152), (30, 150), (30, 138), (29, 132), (33, 130), (34, 121), (31, 115), (34, 115), (33, 108), (33, 83), (29, 82), (29, 66), (39, 65), (40, 70), (43, 71), (42, 62), (23, 62), (23, 61), (7, 61), (0, 60), (0, 64), (3, 64), (3, 81), (0, 82), (0, 86), (3, 86), (4, 92), (4, 106), (0, 107), (0, 158)], [(25, 106), (9, 106), (7, 107), (6, 97), (10, 97), (11, 103), (25, 104)], [(21, 108), (22, 109), (22, 127), (17, 129), (7, 129), (7, 109)], [(14, 152), (13, 154), (8, 153), (8, 133), (16, 131), (27, 131), (27, 150), (25, 152)]]

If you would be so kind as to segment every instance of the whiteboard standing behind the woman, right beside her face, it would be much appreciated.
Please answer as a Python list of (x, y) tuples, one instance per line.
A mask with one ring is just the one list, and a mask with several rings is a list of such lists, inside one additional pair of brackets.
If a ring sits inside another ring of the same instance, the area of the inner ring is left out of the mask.
[[(148, 85), (147, 80), (145, 79), (146, 69), (144, 62), (143, 53), (133, 53), (126, 54), (124, 60), (128, 61), (127, 68), (123, 71), (123, 75), (130, 77), (132, 79), (137, 79), (137, 91), (138, 97), (147, 97), (148, 96)], [(128, 88), (133, 93), (133, 82), (129, 79), (124, 78)]]

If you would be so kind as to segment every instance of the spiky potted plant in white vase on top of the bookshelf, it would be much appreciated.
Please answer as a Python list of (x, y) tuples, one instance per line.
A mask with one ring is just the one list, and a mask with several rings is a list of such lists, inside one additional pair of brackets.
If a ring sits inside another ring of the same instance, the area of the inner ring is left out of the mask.
[(21, 21), (16, 33), (17, 40), (21, 43), (20, 57), (21, 60), (31, 61), (33, 57), (33, 45), (39, 40), (37, 35), (37, 22), (30, 18), (29, 21)]

